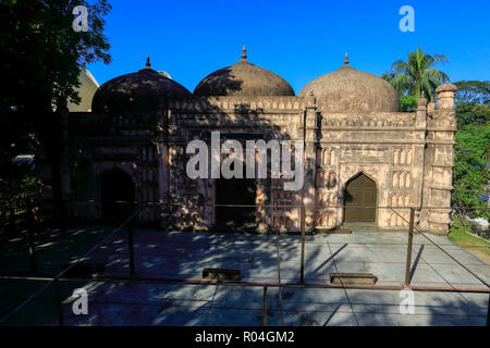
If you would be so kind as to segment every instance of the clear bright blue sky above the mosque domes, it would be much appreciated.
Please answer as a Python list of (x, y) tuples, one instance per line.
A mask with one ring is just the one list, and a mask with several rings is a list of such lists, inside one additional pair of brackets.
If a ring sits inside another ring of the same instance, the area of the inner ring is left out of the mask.
[[(296, 94), (348, 52), (355, 69), (380, 75), (420, 46), (444, 54), (452, 82), (490, 79), (490, 1), (112, 0), (106, 35), (112, 63), (88, 66), (99, 84), (151, 65), (191, 91), (209, 73), (248, 60), (285, 78)], [(402, 5), (415, 32), (402, 33)]]

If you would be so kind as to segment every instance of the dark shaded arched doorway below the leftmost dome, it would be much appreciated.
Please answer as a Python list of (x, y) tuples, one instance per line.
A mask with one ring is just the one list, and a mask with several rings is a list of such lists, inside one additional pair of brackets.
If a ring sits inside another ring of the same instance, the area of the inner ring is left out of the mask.
[[(134, 183), (119, 167), (106, 171), (101, 182), (102, 219), (121, 223), (134, 212)], [(124, 203), (127, 202), (127, 203)]]

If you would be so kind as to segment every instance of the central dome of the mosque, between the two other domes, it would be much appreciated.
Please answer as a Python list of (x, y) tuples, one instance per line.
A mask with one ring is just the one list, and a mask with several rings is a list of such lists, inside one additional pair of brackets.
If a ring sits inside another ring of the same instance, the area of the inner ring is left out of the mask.
[(281, 76), (247, 61), (245, 47), (242, 60), (206, 76), (194, 89), (198, 97), (294, 96), (291, 85)]

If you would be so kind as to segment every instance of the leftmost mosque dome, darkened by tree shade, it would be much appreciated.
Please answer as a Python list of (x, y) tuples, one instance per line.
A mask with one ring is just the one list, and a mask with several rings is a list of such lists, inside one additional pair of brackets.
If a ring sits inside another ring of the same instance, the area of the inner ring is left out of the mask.
[(91, 101), (91, 111), (150, 111), (169, 99), (189, 96), (184, 86), (152, 70), (148, 58), (146, 67), (140, 71), (118, 76), (100, 86)]

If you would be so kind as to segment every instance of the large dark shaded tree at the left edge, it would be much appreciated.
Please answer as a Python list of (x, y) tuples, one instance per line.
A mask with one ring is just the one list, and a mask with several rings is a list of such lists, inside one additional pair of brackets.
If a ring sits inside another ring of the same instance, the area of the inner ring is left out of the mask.
[[(87, 32), (73, 29), (77, 5), (88, 10)], [(39, 144), (54, 153), (58, 123), (53, 104), (79, 101), (75, 87), (81, 69), (111, 61), (103, 35), (103, 17), (110, 9), (107, 0), (0, 1), (2, 191), (25, 178), (12, 163), (15, 156), (33, 153)], [(53, 158), (56, 161), (56, 154)]]

